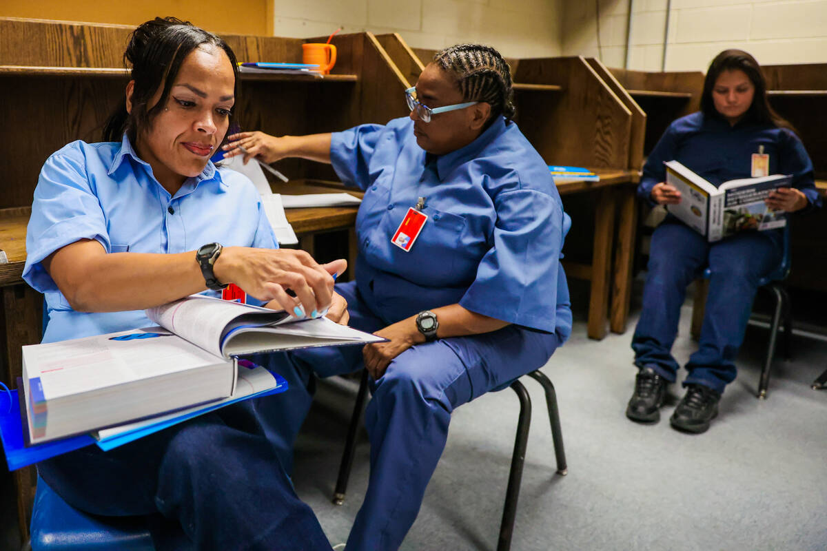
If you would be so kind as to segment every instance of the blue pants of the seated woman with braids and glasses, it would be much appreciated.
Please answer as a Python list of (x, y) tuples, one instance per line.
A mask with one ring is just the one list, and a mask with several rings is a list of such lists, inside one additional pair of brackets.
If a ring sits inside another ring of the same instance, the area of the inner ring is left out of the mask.
[[(337, 284), (336, 290), (347, 300), (351, 326), (372, 332), (386, 325), (361, 300), (355, 283)], [(416, 520), (425, 488), (442, 456), (452, 411), (542, 367), (562, 340), (557, 334), (509, 325), (484, 335), (418, 344), (399, 354), (385, 375), (371, 382), (365, 416), (370, 480), (347, 549), (398, 549)], [(363, 367), (361, 349), (300, 351), (293, 354), (293, 363), (279, 363), (291, 368), (280, 374), (294, 390), (306, 380), (302, 362), (321, 377), (350, 373)], [(310, 394), (294, 392), (291, 401), (271, 403), (283, 409), (280, 413), (273, 410), (272, 419), (284, 422), (285, 441), (293, 439), (302, 424)]]

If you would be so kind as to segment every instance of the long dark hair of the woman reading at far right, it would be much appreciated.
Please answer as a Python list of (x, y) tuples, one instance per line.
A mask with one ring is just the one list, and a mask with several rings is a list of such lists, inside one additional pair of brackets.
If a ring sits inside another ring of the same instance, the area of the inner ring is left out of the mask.
[(721, 73), (736, 69), (743, 71), (755, 88), (753, 104), (749, 106), (744, 119), (795, 132), (796, 129), (770, 106), (767, 99), (767, 79), (764, 78), (761, 66), (752, 55), (743, 50), (724, 50), (712, 60), (710, 69), (706, 72), (704, 92), (700, 96), (700, 110), (704, 112), (704, 115), (720, 118), (721, 115), (715, 109), (715, 101), (712, 99), (712, 89), (715, 88), (715, 81)]

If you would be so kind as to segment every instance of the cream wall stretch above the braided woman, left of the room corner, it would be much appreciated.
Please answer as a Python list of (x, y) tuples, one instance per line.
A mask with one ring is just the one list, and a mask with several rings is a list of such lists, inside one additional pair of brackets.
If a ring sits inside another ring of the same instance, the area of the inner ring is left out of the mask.
[(561, 55), (563, 0), (273, 0), (275, 36), (398, 32), (414, 48), (492, 45), (507, 57)]

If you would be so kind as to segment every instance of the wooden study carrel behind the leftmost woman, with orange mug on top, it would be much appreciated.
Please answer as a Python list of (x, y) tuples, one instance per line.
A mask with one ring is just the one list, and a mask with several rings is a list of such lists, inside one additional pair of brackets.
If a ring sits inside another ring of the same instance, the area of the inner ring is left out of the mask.
[[(43, 297), (21, 280), (26, 223), (38, 173), (45, 159), (70, 141), (101, 140), (109, 113), (124, 101), (127, 70), (122, 55), (133, 28), (0, 18), (0, 116), (4, 122), (0, 132), (0, 249), (9, 259), (9, 264), (0, 265), (0, 378), (9, 387), (17, 387), (15, 378), (21, 373), (20, 347), (41, 339)], [(320, 40), (224, 38), (239, 61), (283, 62), (300, 62), (302, 43)], [(333, 43), (337, 64), (324, 78), (242, 74), (235, 109), (242, 129), (308, 134), (363, 122), (385, 123), (408, 113), (403, 91), (409, 81), (375, 36), (366, 32), (338, 35)], [(279, 168), (291, 178), (291, 191), (312, 192), (319, 185), (337, 185), (329, 166), (289, 159), (280, 162)], [(313, 235), (319, 231), (352, 228), (356, 209), (299, 209), (289, 211), (288, 219), (302, 245), (312, 250)], [(344, 240), (348, 242), (355, 251), (352, 235)], [(15, 473), (24, 536), (34, 476), (33, 469)]]

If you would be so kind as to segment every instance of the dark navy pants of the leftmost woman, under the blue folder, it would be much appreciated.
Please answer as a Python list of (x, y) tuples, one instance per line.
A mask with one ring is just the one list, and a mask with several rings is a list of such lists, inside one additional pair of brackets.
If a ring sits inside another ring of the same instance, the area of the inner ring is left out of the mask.
[(156, 549), (330, 549), (265, 436), (261, 406), (281, 396), (227, 406), (106, 453), (88, 446), (37, 468), (81, 511), (149, 515)]

